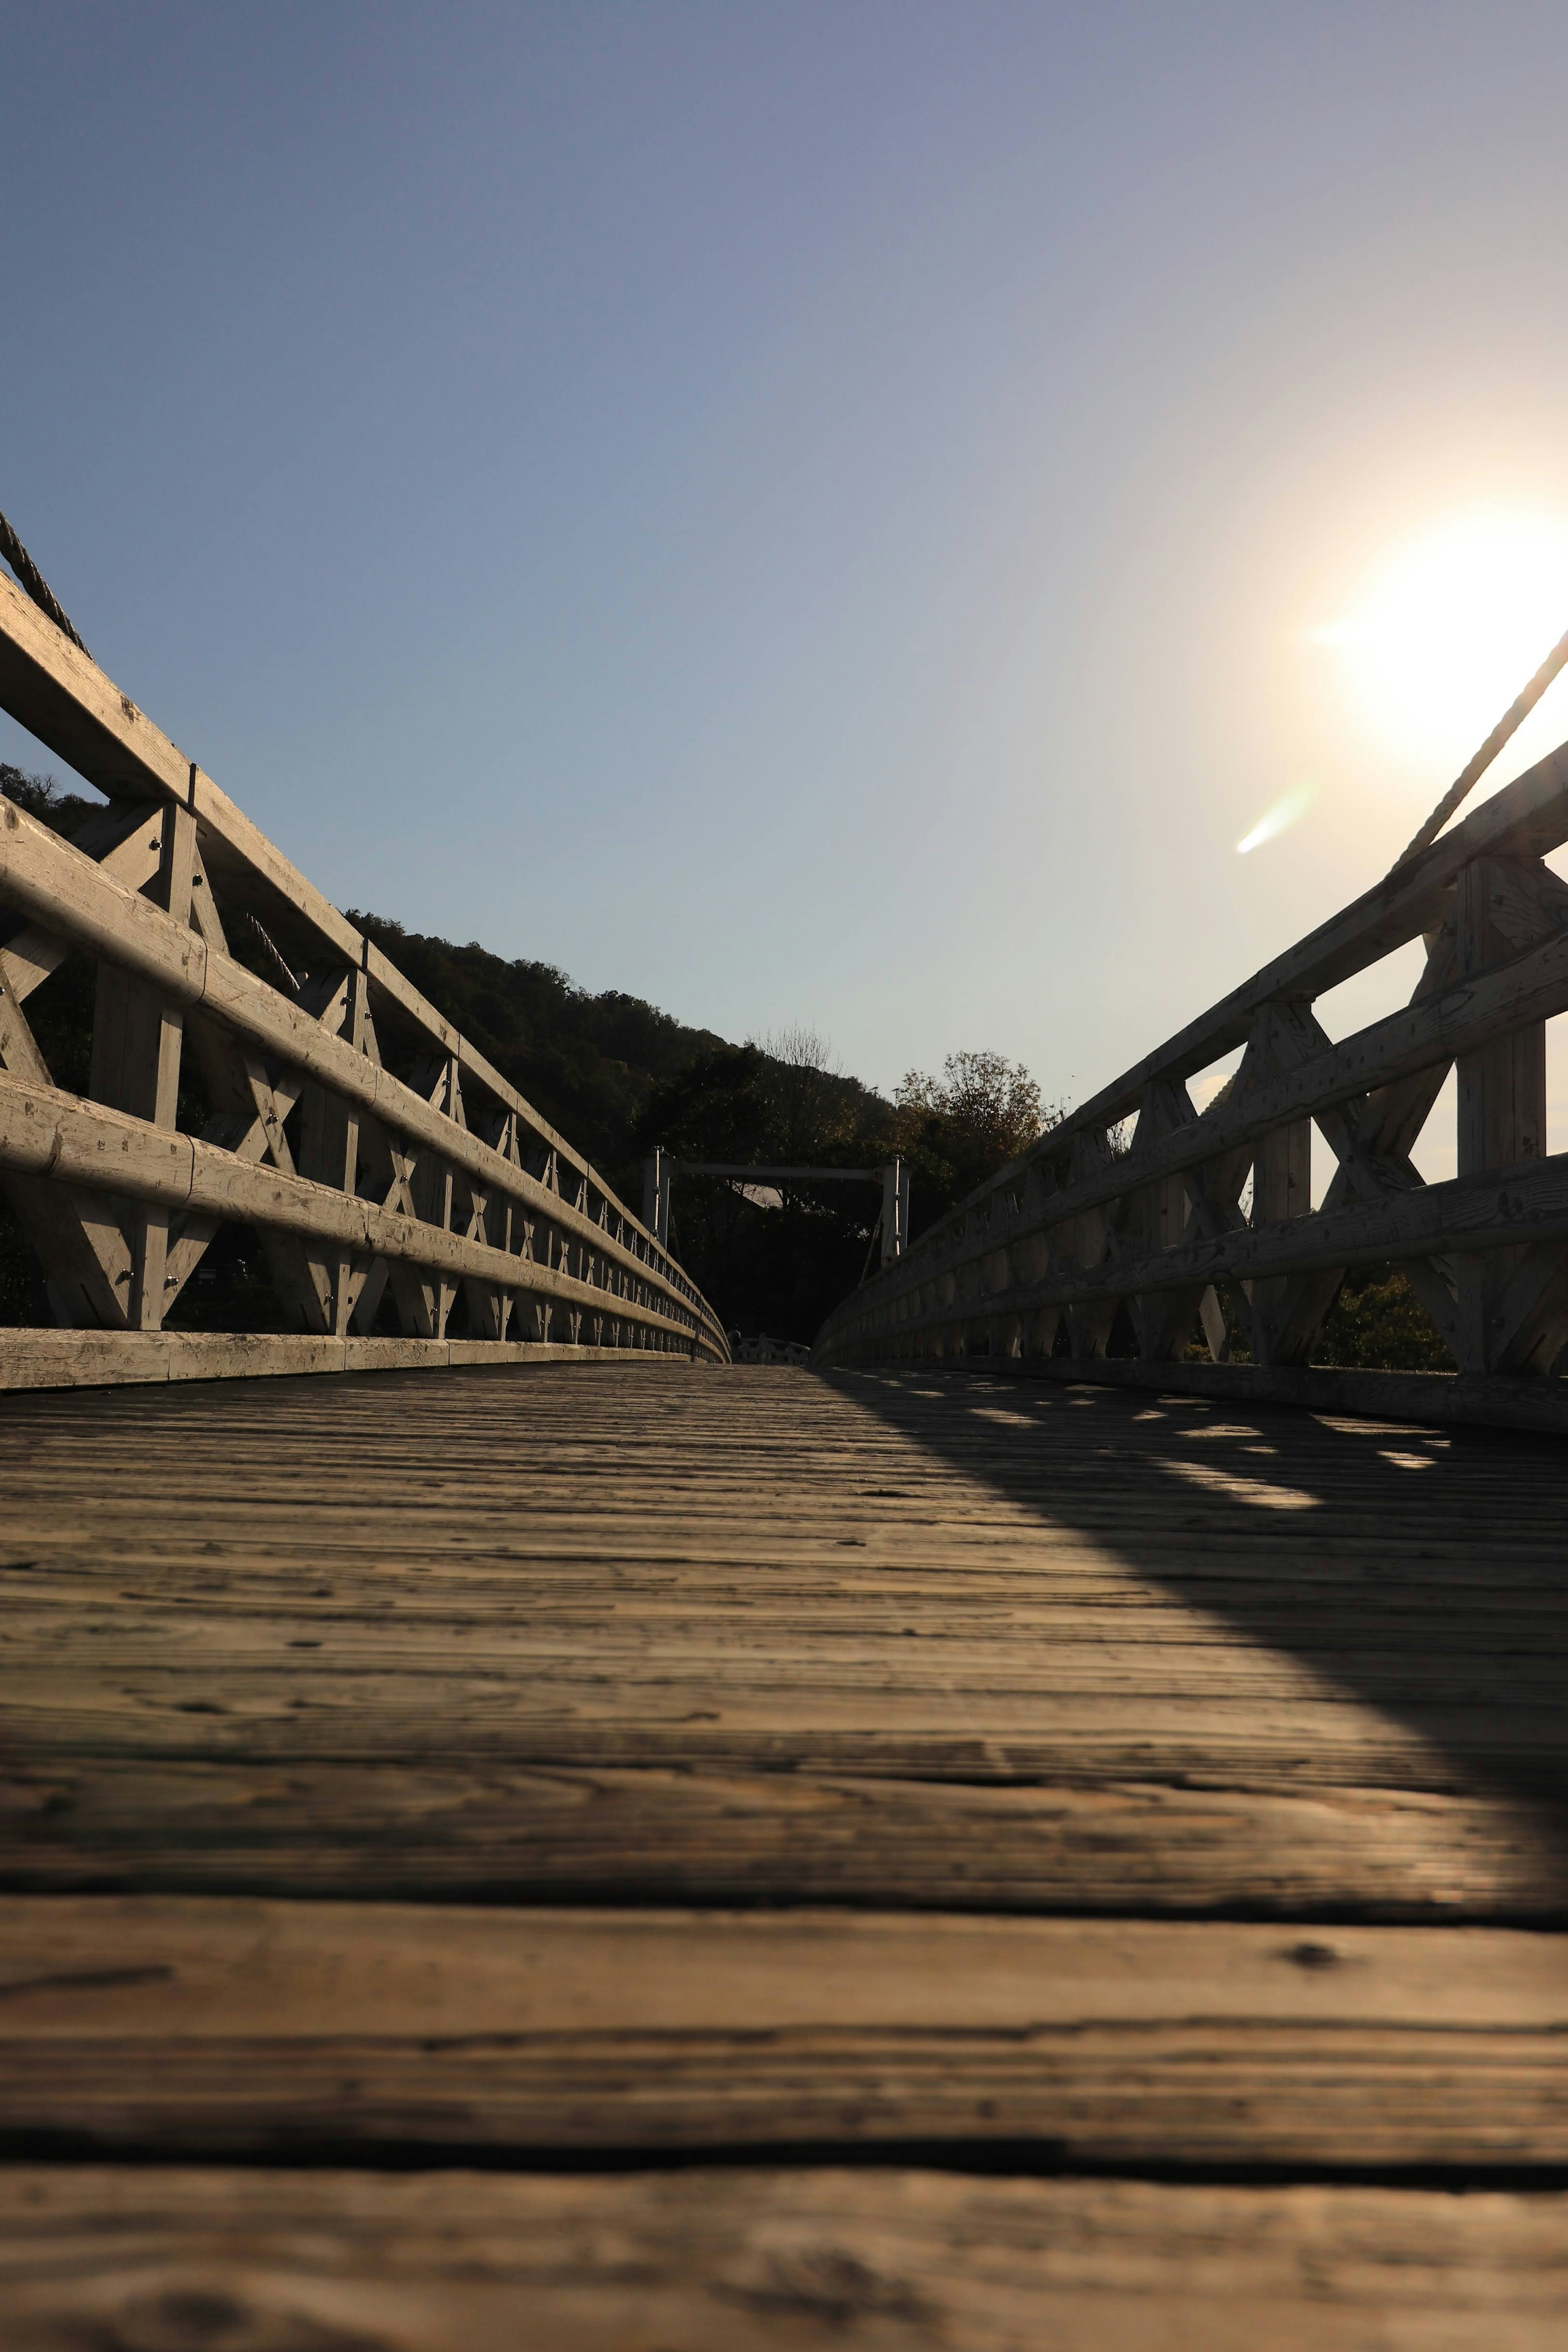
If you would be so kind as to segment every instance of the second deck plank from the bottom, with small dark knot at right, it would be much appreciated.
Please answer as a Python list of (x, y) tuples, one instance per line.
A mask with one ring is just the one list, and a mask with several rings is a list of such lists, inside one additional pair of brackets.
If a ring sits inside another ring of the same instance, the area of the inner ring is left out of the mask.
[(1023, 2140), (1561, 2166), (1568, 1940), (1502, 1929), (14, 1896), (26, 2143)]

